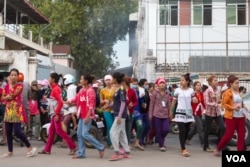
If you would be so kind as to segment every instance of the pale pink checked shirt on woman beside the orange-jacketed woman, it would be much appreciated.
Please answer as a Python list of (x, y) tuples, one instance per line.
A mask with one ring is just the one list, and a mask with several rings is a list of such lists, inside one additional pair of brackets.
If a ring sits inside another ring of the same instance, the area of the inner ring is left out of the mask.
[(219, 105), (217, 102), (217, 96), (219, 95), (220, 91), (218, 89), (213, 89), (211, 86), (207, 88), (207, 90), (204, 93), (205, 105), (206, 105), (205, 115), (210, 117), (217, 117), (221, 115)]

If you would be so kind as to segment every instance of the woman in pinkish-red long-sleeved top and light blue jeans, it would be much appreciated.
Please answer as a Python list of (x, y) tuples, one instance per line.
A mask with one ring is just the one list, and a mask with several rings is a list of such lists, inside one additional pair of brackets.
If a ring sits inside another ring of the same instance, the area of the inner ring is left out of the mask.
[(78, 154), (73, 159), (85, 158), (86, 147), (84, 140), (88, 140), (88, 142), (97, 148), (100, 158), (104, 156), (104, 145), (89, 134), (96, 107), (96, 94), (91, 86), (93, 80), (94, 77), (91, 75), (82, 75), (80, 82), (83, 88), (74, 99), (69, 101), (69, 103), (77, 104), (77, 116), (79, 117), (77, 129)]

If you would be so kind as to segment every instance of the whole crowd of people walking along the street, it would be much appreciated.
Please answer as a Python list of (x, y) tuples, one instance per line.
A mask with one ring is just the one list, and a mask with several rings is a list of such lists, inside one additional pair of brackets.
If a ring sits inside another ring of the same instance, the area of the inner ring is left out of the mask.
[[(239, 78), (234, 75), (228, 77), (223, 89), (219, 89), (216, 76), (208, 77), (209, 85), (204, 89), (201, 82), (191, 80), (189, 73), (180, 76), (179, 87), (169, 85), (164, 78), (148, 83), (147, 79), (129, 78), (119, 72), (106, 75), (103, 83), (96, 82), (91, 75), (81, 75), (79, 84), (70, 74), (62, 76), (53, 72), (48, 80), (33, 81), (27, 92), (23, 91), (23, 81), (24, 76), (17, 69), (10, 70), (6, 83), (0, 76), (0, 113), (4, 117), (0, 144), (8, 145), (8, 152), (2, 158), (13, 156), (13, 131), (27, 147), (27, 157), (33, 157), (37, 149), (31, 146), (29, 138), (41, 140), (41, 126), (49, 122), (48, 141), (39, 154), (51, 154), (55, 134), (63, 139), (61, 145), (69, 148), (73, 159), (86, 157), (84, 140), (97, 149), (100, 158), (105, 148), (114, 150), (110, 161), (130, 158), (132, 135), (135, 135), (136, 149), (144, 151), (146, 145), (157, 142), (159, 150), (165, 152), (171, 121), (178, 124), (184, 157), (190, 156), (186, 145), (196, 133), (204, 151), (220, 156), (236, 130), (237, 150), (246, 150), (243, 110), (248, 109), (239, 90)], [(24, 105), (23, 94), (28, 107)], [(105, 122), (106, 145), (89, 133), (97, 108)], [(218, 145), (214, 149), (209, 144), (213, 120), (219, 128)], [(77, 144), (65, 131), (64, 126), (70, 121), (77, 130)], [(30, 133), (23, 133), (22, 124), (28, 125)]]

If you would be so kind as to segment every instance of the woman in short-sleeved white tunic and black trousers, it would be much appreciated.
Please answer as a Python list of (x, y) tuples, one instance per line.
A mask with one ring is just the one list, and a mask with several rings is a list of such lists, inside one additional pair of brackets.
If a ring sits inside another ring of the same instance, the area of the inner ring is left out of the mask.
[(189, 152), (186, 150), (185, 142), (188, 137), (191, 122), (194, 122), (191, 101), (197, 103), (197, 99), (194, 96), (194, 90), (190, 88), (191, 82), (192, 80), (189, 73), (181, 76), (181, 87), (175, 90), (171, 105), (172, 111), (172, 109), (175, 107), (176, 102), (178, 101), (174, 119), (178, 123), (178, 127), (180, 130), (179, 140), (182, 149), (182, 155), (184, 157), (189, 156)]

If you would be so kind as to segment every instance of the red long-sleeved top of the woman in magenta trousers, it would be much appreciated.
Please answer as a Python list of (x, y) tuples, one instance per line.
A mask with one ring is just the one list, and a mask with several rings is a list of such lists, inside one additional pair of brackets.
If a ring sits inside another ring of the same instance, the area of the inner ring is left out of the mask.
[(50, 94), (50, 98), (55, 100), (57, 104), (54, 106), (55, 114), (60, 114), (62, 107), (63, 107), (63, 100), (62, 100), (62, 90), (58, 84), (52, 84), (52, 90)]

